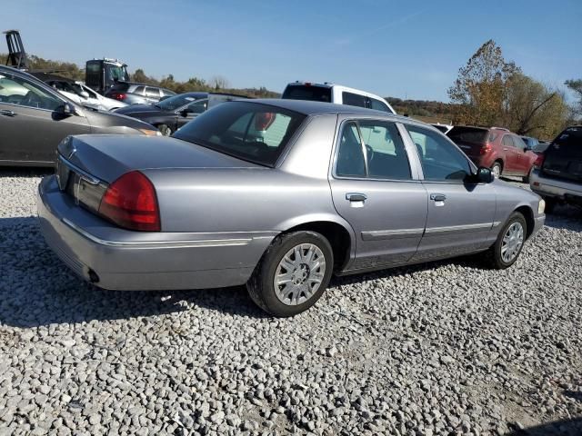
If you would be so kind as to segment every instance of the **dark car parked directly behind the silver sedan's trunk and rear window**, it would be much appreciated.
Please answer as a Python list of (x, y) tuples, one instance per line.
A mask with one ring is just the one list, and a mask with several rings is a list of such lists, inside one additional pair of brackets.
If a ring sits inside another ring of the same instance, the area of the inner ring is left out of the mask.
[(187, 122), (210, 107), (236, 98), (236, 94), (186, 93), (177, 94), (155, 104), (132, 104), (118, 109), (115, 114), (124, 114), (152, 124), (165, 136), (176, 132)]

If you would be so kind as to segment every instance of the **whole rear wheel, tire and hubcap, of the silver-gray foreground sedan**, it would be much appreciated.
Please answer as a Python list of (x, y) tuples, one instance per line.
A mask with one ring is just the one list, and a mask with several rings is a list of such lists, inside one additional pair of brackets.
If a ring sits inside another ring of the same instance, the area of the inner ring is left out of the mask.
[(277, 317), (305, 312), (331, 279), (334, 253), (324, 236), (294, 232), (277, 236), (246, 283), (261, 309)]

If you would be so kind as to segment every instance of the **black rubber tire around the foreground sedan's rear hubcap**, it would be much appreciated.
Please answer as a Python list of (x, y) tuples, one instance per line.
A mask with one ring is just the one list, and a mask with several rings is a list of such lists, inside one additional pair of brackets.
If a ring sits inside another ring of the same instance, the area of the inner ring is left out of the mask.
[[(315, 245), (325, 259), (326, 268), (323, 272), (323, 279), (319, 287), (305, 302), (296, 305), (282, 302), (276, 294), (275, 275), (279, 268), (279, 263), (286, 253), (299, 244)], [(316, 232), (294, 232), (277, 236), (267, 248), (265, 254), (256, 265), (253, 275), (246, 283), (246, 289), (256, 305), (276, 317), (294, 316), (305, 312), (321, 297), (326, 290), (334, 268), (334, 253), (331, 245), (324, 236)]]

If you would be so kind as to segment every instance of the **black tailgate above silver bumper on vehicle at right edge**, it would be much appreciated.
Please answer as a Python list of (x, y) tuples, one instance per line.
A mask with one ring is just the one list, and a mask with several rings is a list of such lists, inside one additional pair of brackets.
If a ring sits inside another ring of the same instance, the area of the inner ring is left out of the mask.
[(547, 147), (542, 173), (582, 182), (582, 127), (566, 129)]

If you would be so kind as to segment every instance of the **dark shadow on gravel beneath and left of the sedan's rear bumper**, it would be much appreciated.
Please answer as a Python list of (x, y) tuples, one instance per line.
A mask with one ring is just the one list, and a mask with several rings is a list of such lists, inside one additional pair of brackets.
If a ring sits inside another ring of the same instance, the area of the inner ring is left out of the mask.
[(156, 316), (196, 308), (264, 318), (244, 287), (105, 291), (77, 278), (45, 244), (32, 216), (0, 219), (0, 325)]

